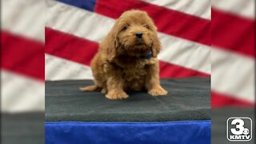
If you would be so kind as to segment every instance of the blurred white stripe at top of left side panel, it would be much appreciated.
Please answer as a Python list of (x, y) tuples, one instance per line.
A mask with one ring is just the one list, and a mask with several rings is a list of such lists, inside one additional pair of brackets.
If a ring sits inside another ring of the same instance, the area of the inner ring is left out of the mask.
[(44, 1), (2, 0), (2, 30), (44, 42)]

